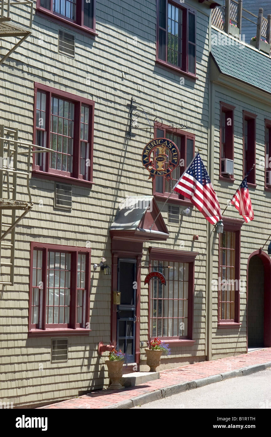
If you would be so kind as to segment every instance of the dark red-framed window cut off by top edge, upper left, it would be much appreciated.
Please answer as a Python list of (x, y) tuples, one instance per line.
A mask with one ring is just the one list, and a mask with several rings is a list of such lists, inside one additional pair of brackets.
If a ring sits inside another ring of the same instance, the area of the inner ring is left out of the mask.
[(37, 10), (75, 27), (95, 31), (95, 0), (37, 0)]

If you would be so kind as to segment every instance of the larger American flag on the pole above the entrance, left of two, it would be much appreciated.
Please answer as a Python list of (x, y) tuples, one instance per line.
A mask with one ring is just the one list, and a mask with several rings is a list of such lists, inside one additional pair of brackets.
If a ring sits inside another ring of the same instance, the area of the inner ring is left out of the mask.
[(174, 191), (190, 199), (212, 225), (221, 220), (217, 195), (199, 153), (176, 183)]

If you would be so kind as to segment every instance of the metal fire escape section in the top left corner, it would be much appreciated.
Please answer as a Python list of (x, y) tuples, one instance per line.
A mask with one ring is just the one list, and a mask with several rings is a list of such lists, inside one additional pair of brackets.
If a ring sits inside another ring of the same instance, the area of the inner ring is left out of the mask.
[[(20, 14), (20, 7), (30, 6), (30, 10), (25, 10), (24, 15), (27, 14), (27, 18), (20, 17), (20, 21), (24, 21), (24, 26), (18, 26), (13, 21), (17, 21), (17, 16)], [(11, 21), (10, 12), (13, 15), (13, 21)], [(29, 18), (29, 20), (28, 20)], [(7, 40), (11, 45), (11, 49), (2, 56), (0, 59), (0, 65), (10, 56), (24, 40), (31, 35), (33, 20), (33, 1), (31, 0), (0, 0), (0, 38)], [(20, 38), (19, 41), (14, 38)], [(3, 44), (1, 44), (3, 47)], [(2, 51), (2, 50), (1, 50)]]

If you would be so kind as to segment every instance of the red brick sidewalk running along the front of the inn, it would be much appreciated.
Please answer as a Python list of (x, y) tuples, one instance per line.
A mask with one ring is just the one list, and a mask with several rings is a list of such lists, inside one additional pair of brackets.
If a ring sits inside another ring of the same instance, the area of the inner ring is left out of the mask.
[(155, 381), (144, 382), (136, 387), (120, 391), (96, 390), (79, 398), (57, 402), (40, 407), (41, 409), (98, 409), (112, 406), (118, 402), (128, 401), (137, 396), (154, 392), (159, 388), (190, 382), (207, 376), (218, 375), (223, 372), (238, 370), (254, 364), (263, 364), (271, 361), (271, 348), (255, 350), (249, 354), (225, 357), (213, 361), (202, 361), (196, 364), (160, 371), (160, 378)]

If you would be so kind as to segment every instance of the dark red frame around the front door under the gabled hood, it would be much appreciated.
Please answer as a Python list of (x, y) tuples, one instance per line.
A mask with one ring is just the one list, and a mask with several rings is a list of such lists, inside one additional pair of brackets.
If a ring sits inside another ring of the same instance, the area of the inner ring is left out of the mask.
[(136, 332), (135, 332), (135, 357), (136, 362), (127, 364), (125, 369), (131, 369), (137, 364), (137, 371), (139, 371), (140, 363), (140, 282), (141, 282), (141, 260), (142, 252), (135, 253), (129, 251), (119, 251), (112, 253), (112, 295), (111, 295), (111, 338), (112, 342), (117, 341), (117, 312), (116, 305), (113, 305), (113, 291), (118, 290), (118, 264), (119, 259), (136, 260)]

